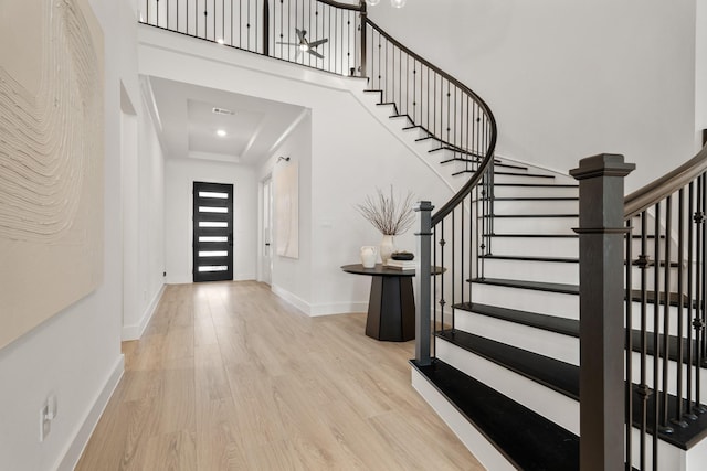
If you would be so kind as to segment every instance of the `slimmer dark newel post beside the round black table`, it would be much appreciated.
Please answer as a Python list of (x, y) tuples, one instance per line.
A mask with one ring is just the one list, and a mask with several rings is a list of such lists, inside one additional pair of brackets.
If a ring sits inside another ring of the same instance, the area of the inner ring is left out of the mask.
[(415, 361), (429, 365), (430, 360), (430, 278), (432, 277), (432, 210), (429, 201), (415, 204), (418, 213), (418, 267), (415, 277)]

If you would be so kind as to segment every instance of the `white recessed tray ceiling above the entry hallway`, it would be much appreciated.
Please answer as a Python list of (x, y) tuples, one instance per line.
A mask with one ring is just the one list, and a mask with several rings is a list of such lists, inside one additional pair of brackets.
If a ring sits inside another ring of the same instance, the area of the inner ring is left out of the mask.
[[(268, 158), (305, 113), (300, 106), (165, 78), (143, 78), (167, 158), (252, 164)], [(233, 115), (214, 114), (213, 108)], [(218, 136), (219, 129), (225, 136)]]

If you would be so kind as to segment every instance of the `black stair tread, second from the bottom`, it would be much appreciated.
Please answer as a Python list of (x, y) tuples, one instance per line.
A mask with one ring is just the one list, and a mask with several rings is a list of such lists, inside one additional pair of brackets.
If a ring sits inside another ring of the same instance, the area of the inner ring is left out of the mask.
[(444, 330), (437, 332), (437, 336), (579, 400), (579, 368), (576, 365), (460, 330)]

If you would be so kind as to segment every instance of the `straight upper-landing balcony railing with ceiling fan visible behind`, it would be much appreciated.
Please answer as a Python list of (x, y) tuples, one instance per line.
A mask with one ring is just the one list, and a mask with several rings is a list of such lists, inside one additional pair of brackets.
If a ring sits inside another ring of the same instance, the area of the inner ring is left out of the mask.
[[(361, 68), (365, 2), (140, 0), (139, 15), (145, 24), (338, 75)], [(303, 32), (307, 43), (326, 42), (309, 51)]]

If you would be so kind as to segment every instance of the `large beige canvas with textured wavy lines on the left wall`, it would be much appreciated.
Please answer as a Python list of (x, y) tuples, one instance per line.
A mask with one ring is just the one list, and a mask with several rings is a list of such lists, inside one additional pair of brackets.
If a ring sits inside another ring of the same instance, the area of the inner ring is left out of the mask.
[(0, 0), (0, 349), (102, 281), (103, 99), (87, 0)]

